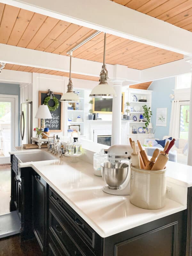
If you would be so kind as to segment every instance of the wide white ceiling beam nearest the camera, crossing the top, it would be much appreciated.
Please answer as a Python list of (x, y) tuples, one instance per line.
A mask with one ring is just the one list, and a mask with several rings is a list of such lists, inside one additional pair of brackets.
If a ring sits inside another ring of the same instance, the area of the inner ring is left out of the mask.
[(109, 0), (0, 0), (29, 11), (192, 56), (192, 33)]

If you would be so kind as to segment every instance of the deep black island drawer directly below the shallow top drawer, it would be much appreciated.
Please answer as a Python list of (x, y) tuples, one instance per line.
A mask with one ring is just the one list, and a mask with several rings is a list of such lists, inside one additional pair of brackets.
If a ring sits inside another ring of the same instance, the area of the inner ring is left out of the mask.
[[(66, 228), (63, 226), (61, 221), (58, 219), (58, 217), (52, 212), (50, 209), (49, 211), (49, 233), (53, 239), (57, 241), (57, 243), (60, 245), (58, 249), (62, 248), (62, 251), (67, 256), (82, 256), (85, 254), (81, 251), (81, 249), (75, 244), (75, 241), (72, 239)], [(61, 255), (63, 253), (60, 251)], [(65, 255), (64, 254), (64, 255)]]

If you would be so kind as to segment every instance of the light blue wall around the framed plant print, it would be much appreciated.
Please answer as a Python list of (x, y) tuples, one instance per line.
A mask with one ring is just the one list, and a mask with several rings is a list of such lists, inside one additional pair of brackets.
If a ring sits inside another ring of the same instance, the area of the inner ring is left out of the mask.
[[(151, 123), (153, 126), (153, 131), (156, 129), (155, 138), (162, 139), (163, 136), (169, 135), (169, 124), (171, 118), (171, 99), (169, 95), (174, 92), (175, 88), (175, 77), (169, 77), (161, 80), (154, 81), (148, 88), (152, 90), (152, 117)], [(167, 126), (156, 126), (156, 109), (157, 108), (167, 108)]]

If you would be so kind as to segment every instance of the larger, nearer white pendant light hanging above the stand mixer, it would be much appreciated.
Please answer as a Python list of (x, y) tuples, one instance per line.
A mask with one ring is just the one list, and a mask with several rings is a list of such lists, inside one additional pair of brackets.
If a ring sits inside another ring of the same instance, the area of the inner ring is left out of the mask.
[(105, 65), (105, 48), (106, 48), (106, 33), (104, 37), (104, 53), (103, 53), (103, 65), (100, 72), (99, 84), (95, 86), (89, 97), (92, 98), (115, 98), (116, 92), (113, 86), (109, 85), (107, 82), (108, 79), (108, 71)]

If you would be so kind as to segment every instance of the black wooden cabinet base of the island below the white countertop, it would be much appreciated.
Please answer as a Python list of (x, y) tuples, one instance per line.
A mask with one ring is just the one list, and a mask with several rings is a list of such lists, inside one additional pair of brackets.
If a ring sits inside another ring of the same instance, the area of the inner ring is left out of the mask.
[(31, 167), (12, 170), (21, 241), (36, 236), (46, 256), (191, 256), (191, 202), (189, 188), (187, 210), (103, 238)]

